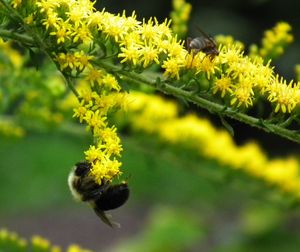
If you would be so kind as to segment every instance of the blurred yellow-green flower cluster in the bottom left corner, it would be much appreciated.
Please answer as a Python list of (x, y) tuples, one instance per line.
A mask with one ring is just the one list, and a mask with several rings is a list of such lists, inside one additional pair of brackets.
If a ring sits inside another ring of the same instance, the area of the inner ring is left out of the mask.
[[(34, 235), (31, 241), (28, 242), (24, 238), (19, 237), (16, 233), (6, 229), (0, 229), (0, 251), (44, 251), (44, 252), (62, 252), (59, 246), (52, 245), (49, 240)], [(65, 252), (92, 252), (91, 250), (83, 249), (76, 244), (70, 245)]]

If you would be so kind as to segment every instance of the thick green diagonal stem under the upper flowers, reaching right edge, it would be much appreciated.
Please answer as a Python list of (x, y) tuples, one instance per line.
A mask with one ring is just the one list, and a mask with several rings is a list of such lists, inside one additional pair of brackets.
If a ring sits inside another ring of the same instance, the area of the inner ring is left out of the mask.
[(300, 134), (297, 131), (289, 130), (284, 127), (281, 127), (276, 124), (268, 123), (265, 120), (255, 118), (249, 115), (246, 115), (244, 113), (238, 112), (233, 108), (226, 107), (224, 105), (212, 102), (210, 100), (207, 100), (203, 97), (195, 95), (193, 92), (185, 91), (180, 88), (174, 87), (172, 85), (163, 83), (160, 86), (157, 86), (157, 83), (155, 80), (146, 78), (145, 76), (133, 73), (133, 72), (127, 72), (125, 70), (122, 70), (120, 67), (110, 64), (108, 62), (98, 62), (98, 65), (105, 68), (108, 72), (116, 72), (118, 74), (121, 74), (123, 76), (126, 76), (127, 79), (132, 80), (134, 82), (140, 82), (146, 85), (150, 85), (156, 89), (159, 89), (163, 93), (170, 94), (179, 98), (185, 98), (187, 101), (190, 101), (196, 105), (198, 105), (201, 108), (207, 109), (212, 113), (215, 114), (222, 114), (224, 116), (233, 118), (235, 120), (238, 120), (240, 122), (249, 124), (252, 127), (256, 127), (259, 129), (262, 129), (266, 132), (271, 132), (273, 134), (279, 135), (281, 137), (287, 138), (291, 141), (300, 143)]

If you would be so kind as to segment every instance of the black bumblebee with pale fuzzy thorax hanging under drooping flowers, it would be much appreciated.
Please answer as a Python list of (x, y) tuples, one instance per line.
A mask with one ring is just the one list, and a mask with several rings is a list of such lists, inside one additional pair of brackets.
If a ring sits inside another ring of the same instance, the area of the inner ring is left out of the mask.
[(87, 202), (94, 209), (100, 219), (110, 227), (120, 225), (110, 220), (110, 216), (104, 211), (122, 206), (129, 197), (129, 187), (126, 182), (112, 185), (103, 180), (97, 184), (90, 175), (91, 164), (79, 162), (71, 170), (68, 184), (73, 197), (76, 200)]

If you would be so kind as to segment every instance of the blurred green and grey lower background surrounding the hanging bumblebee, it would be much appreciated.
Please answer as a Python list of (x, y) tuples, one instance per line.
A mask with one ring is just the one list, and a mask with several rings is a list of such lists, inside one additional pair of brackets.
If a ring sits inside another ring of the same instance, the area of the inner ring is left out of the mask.
[(59, 133), (1, 139), (1, 226), (95, 251), (298, 251), (288, 196), (153, 138), (122, 139), (131, 196), (111, 211), (121, 229), (73, 201), (67, 175), (89, 139)]

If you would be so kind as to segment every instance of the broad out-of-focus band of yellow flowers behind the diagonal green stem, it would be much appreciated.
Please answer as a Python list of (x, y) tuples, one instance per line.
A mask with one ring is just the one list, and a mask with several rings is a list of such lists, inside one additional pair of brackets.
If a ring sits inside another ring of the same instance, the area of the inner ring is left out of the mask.
[(128, 99), (134, 129), (157, 134), (174, 145), (192, 148), (207, 158), (300, 197), (300, 165), (295, 157), (268, 159), (254, 142), (237, 146), (227, 131), (215, 129), (208, 120), (194, 114), (179, 117), (176, 105), (158, 96), (131, 92)]

